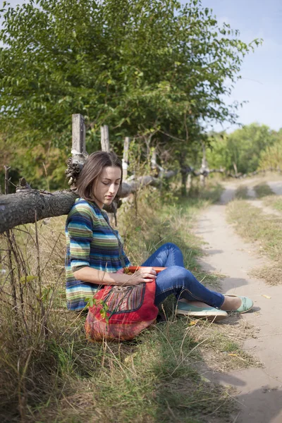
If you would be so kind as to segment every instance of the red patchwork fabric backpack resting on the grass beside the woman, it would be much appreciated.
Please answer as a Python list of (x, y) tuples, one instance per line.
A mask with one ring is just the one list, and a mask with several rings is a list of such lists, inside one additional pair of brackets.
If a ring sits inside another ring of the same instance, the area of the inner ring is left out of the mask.
[[(135, 268), (136, 269), (136, 268)], [(159, 312), (154, 305), (156, 283), (134, 286), (104, 286), (90, 302), (85, 321), (90, 341), (129, 341), (154, 323)]]

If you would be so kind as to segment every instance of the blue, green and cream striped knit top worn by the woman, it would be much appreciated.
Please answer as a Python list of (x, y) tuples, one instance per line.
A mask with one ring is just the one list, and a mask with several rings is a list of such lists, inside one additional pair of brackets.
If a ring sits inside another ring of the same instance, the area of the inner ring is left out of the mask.
[(66, 299), (68, 309), (80, 311), (87, 306), (99, 285), (75, 279), (73, 272), (85, 266), (115, 273), (130, 262), (123, 251), (118, 231), (94, 202), (75, 200), (66, 221)]

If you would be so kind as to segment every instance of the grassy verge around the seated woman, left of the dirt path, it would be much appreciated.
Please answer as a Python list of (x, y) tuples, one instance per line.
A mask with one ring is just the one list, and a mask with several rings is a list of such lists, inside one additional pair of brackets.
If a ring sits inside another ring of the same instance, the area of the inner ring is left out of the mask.
[[(199, 197), (161, 200), (143, 190), (137, 210), (124, 204), (118, 228), (133, 264), (166, 242), (178, 244), (185, 265), (204, 283), (218, 284), (197, 264), (201, 242), (192, 234), (200, 209), (219, 199), (221, 188)], [(154, 204), (154, 207), (152, 207)], [(223, 371), (255, 364), (241, 350), (240, 320), (231, 326), (176, 319), (175, 301), (164, 302), (167, 321), (128, 343), (88, 343), (85, 317), (64, 308), (64, 218), (15, 231), (23, 262), (7, 274), (1, 255), (0, 419), (2, 422), (216, 422), (233, 421), (231, 388), (202, 378), (197, 362)], [(25, 231), (25, 232), (23, 232)], [(37, 243), (36, 240), (39, 240)], [(4, 239), (6, 245), (7, 239)], [(39, 259), (37, 259), (37, 256)], [(18, 266), (18, 267), (17, 267)]]

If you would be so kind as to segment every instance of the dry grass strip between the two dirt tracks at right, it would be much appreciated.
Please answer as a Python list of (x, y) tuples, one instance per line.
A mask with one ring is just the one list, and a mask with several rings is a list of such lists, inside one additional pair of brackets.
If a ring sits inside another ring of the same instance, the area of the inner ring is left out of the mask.
[(248, 241), (255, 241), (259, 252), (274, 261), (270, 266), (253, 270), (252, 275), (264, 278), (271, 285), (281, 283), (282, 216), (266, 215), (261, 209), (243, 200), (228, 204), (227, 213), (236, 231)]

